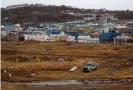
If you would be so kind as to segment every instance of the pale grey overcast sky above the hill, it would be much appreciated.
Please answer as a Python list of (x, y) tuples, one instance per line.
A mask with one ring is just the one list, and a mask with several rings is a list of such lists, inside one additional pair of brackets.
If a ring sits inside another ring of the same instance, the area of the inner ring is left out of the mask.
[(133, 10), (133, 0), (1, 0), (1, 7), (14, 4), (69, 5), (79, 8), (106, 8), (109, 10)]

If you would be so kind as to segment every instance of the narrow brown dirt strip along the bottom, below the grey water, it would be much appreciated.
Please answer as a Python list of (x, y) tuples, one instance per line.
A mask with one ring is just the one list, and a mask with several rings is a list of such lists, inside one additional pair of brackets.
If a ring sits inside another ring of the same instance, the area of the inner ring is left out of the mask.
[(133, 90), (133, 85), (68, 85), (68, 86), (2, 85), (1, 90)]

